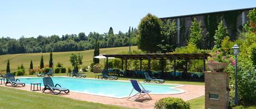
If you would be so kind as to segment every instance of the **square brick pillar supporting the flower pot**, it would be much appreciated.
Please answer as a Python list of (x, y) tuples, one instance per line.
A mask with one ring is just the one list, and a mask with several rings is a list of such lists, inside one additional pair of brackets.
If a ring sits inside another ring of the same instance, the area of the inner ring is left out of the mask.
[(228, 108), (229, 73), (205, 73), (205, 109)]

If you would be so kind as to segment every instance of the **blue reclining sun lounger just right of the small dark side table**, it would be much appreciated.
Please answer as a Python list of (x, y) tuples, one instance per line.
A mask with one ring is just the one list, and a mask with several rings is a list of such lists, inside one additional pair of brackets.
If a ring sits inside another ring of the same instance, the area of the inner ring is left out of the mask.
[[(52, 79), (51, 79), (51, 77), (44, 77), (43, 78), (43, 81), (44, 81), (44, 88), (43, 88), (43, 90), (42, 90), (42, 92), (44, 93), (44, 91), (46, 90), (46, 89), (49, 89), (50, 91), (52, 91), (54, 94), (59, 94), (59, 93), (61, 93), (61, 91), (64, 91), (65, 93), (69, 93), (69, 89), (67, 89), (67, 88), (62, 88), (61, 87), (61, 85), (59, 85), (59, 84), (56, 84), (56, 85), (54, 85), (53, 84), (53, 81), (52, 81)], [(57, 85), (59, 86), (59, 87), (57, 87)], [(57, 90), (57, 91), (59, 91), (59, 92), (55, 92), (55, 90)]]

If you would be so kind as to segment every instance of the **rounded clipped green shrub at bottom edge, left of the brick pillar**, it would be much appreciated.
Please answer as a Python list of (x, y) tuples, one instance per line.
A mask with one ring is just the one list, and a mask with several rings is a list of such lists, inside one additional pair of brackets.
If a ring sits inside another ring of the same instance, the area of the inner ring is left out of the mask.
[(183, 101), (181, 98), (163, 98), (158, 100), (155, 104), (154, 104), (154, 108), (156, 109), (189, 109), (189, 103)]

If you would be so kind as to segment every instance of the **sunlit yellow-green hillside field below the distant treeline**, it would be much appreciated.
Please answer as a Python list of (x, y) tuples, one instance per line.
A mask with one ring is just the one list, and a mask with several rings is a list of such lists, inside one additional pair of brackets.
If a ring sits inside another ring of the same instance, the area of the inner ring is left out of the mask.
[[(136, 50), (137, 47), (131, 47), (131, 50)], [(128, 52), (129, 47), (116, 47), (116, 48), (102, 48), (100, 49), (100, 54), (118, 54), (121, 52)], [(93, 50), (85, 50), (78, 52), (55, 52), (52, 53), (53, 61), (55, 61), (55, 65), (57, 62), (61, 62), (64, 67), (72, 67), (69, 61), (70, 55), (74, 54), (82, 54), (84, 59), (82, 60), (82, 66), (88, 66), (92, 62)], [(26, 70), (29, 68), (30, 61), (33, 61), (33, 67), (37, 68), (40, 65), (41, 55), (44, 56), (44, 64), (49, 64), (49, 56), (50, 53), (26, 53), (26, 54), (8, 54), (8, 55), (0, 55), (0, 71), (6, 70), (7, 60), (10, 60), (10, 69), (16, 70), (17, 66), (20, 66), (23, 63), (23, 66)]]

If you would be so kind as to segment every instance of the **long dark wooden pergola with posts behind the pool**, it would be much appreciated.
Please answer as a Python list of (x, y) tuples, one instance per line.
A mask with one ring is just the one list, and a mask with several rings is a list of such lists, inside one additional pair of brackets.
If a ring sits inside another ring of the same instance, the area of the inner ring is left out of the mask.
[[(173, 54), (164, 54), (164, 53), (151, 53), (151, 54), (103, 54), (106, 57), (106, 72), (108, 73), (108, 57), (115, 57), (122, 60), (122, 70), (123, 70), (123, 60), (125, 61), (126, 71), (127, 71), (127, 60), (140, 60), (140, 70), (142, 65), (142, 60), (148, 60), (148, 72), (150, 72), (150, 60), (174, 60), (174, 73), (176, 76), (176, 60), (203, 60), (204, 66), (203, 70), (205, 71), (205, 60), (208, 56), (207, 53), (173, 53)], [(163, 61), (162, 61), (163, 62)], [(163, 64), (163, 63), (162, 63)], [(186, 69), (188, 67), (186, 66)], [(162, 72), (163, 72), (162, 68)]]

